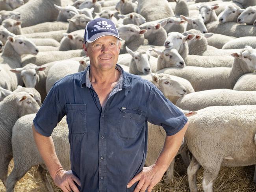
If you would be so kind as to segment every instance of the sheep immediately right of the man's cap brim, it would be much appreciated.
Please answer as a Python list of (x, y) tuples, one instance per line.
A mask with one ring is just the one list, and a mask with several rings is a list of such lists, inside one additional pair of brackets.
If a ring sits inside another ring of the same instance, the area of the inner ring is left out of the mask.
[(137, 48), (145, 44), (145, 38), (144, 33), (147, 32), (147, 30), (141, 30), (138, 26), (134, 24), (127, 24), (125, 26), (121, 26), (117, 28), (119, 32), (119, 36), (125, 41), (122, 42), (122, 48), (120, 50), (120, 54), (126, 53), (125, 47), (129, 47), (130, 50), (136, 51)]

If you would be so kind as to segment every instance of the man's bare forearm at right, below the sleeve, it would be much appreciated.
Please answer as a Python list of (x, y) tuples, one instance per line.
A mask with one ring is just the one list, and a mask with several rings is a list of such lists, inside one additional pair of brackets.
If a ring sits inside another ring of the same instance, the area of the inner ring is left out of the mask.
[(154, 167), (165, 172), (175, 155), (177, 154), (180, 145), (182, 144), (183, 137), (186, 133), (188, 123), (175, 135), (166, 136), (163, 149), (156, 159)]

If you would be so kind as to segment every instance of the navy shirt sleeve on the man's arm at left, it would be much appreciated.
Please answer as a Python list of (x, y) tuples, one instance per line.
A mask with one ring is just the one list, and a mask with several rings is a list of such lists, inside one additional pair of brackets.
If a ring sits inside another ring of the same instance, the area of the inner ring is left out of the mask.
[(59, 102), (58, 82), (56, 82), (52, 89), (50, 89), (43, 105), (33, 120), (33, 124), (38, 133), (50, 137), (58, 122), (65, 116), (63, 106), (64, 105), (61, 105)]

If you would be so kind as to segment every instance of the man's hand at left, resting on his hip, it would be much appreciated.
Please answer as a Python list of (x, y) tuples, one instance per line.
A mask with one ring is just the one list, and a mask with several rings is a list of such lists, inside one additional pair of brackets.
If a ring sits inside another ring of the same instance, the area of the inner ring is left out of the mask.
[(74, 181), (81, 186), (80, 180), (72, 174), (72, 171), (59, 170), (53, 177), (54, 183), (63, 190), (63, 192), (79, 192)]

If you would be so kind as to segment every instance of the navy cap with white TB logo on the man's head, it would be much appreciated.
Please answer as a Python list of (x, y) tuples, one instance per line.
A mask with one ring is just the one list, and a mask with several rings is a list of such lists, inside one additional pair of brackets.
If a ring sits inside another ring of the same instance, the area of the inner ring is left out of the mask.
[(122, 41), (121, 37), (119, 37), (115, 23), (110, 19), (99, 17), (87, 23), (85, 27), (84, 40), (85, 42), (91, 43), (106, 35), (115, 36)]

